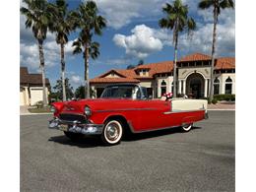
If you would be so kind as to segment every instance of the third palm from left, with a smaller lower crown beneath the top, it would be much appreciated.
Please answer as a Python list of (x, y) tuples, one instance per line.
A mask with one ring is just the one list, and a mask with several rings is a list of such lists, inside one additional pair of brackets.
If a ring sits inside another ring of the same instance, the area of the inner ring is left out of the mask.
[(85, 96), (90, 97), (89, 84), (89, 57), (93, 59), (99, 54), (99, 44), (93, 41), (93, 35), (101, 34), (101, 31), (106, 26), (106, 21), (103, 17), (97, 15), (97, 7), (94, 1), (87, 1), (80, 4), (76, 12), (71, 13), (71, 18), (75, 21), (76, 28), (81, 29), (79, 37), (73, 42), (75, 47), (73, 53), (77, 54), (83, 51), (85, 59)]

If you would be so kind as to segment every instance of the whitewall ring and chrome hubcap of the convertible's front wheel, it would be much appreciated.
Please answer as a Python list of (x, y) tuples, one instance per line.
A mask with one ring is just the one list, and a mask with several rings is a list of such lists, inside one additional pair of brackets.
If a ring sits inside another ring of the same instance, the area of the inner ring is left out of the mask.
[(118, 143), (122, 137), (122, 125), (116, 121), (109, 121), (104, 128), (104, 138), (109, 144)]

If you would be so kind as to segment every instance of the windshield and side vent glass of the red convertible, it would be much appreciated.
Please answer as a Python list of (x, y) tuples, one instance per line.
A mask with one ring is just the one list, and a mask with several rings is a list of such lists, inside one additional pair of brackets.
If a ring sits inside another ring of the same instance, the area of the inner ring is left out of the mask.
[(104, 89), (101, 98), (123, 97), (123, 98), (141, 98), (141, 92), (137, 86), (113, 86)]

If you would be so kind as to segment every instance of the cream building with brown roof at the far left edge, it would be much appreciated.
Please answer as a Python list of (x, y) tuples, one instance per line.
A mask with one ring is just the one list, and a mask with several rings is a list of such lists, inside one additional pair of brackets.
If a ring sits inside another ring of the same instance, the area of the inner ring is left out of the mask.
[[(46, 96), (49, 95), (50, 83), (45, 79)], [(20, 105), (33, 105), (42, 100), (41, 74), (30, 74), (27, 67), (20, 68)], [(48, 99), (47, 99), (48, 101)]]

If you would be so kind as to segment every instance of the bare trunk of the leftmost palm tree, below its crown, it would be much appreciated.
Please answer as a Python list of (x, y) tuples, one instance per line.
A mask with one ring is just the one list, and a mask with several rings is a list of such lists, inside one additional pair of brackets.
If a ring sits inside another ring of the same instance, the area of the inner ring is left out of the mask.
[(40, 60), (41, 78), (42, 78), (42, 101), (43, 101), (43, 106), (46, 107), (47, 96), (46, 96), (46, 88), (45, 88), (44, 57), (43, 57), (42, 40), (40, 39), (38, 39), (38, 49), (39, 49), (39, 60)]

